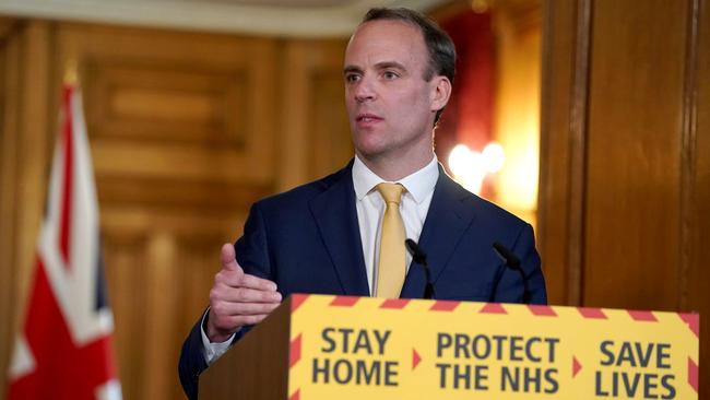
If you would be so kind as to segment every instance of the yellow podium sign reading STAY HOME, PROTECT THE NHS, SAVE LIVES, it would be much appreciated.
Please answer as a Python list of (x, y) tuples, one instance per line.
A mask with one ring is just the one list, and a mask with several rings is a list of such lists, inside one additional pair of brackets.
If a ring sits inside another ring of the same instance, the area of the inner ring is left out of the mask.
[(288, 393), (697, 399), (695, 314), (294, 295)]

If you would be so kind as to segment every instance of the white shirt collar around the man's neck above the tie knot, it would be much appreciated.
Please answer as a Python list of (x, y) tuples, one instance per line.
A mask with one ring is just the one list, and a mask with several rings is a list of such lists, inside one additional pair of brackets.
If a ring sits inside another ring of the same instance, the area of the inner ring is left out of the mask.
[[(431, 157), (431, 162), (427, 164), (424, 168), (405, 176), (404, 178), (395, 181), (395, 184), (402, 184), (406, 191), (412, 195), (414, 201), (418, 204), (426, 197), (434, 191), (436, 181), (439, 179), (439, 162), (436, 157)], [(363, 200), (375, 187), (383, 181), (387, 181), (363, 163), (357, 155), (355, 155), (355, 161), (353, 162), (353, 186), (355, 187), (355, 196), (357, 200)]]

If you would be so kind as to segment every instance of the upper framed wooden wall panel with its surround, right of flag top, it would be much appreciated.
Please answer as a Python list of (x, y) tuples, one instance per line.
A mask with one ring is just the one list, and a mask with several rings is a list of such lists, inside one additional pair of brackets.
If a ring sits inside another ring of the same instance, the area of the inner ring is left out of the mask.
[(274, 40), (75, 24), (58, 42), (86, 81), (98, 175), (273, 179)]

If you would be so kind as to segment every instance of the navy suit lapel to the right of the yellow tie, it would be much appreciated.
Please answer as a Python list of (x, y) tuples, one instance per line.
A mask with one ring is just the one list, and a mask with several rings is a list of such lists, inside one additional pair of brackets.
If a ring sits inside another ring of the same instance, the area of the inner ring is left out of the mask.
[[(461, 236), (474, 220), (475, 213), (471, 202), (464, 201), (471, 196), (446, 175), (439, 165), (439, 179), (434, 188), (431, 203), (418, 243), (427, 255), (434, 282), (446, 268)], [(412, 263), (402, 287), (401, 297), (422, 297), (425, 282), (422, 266)]]

